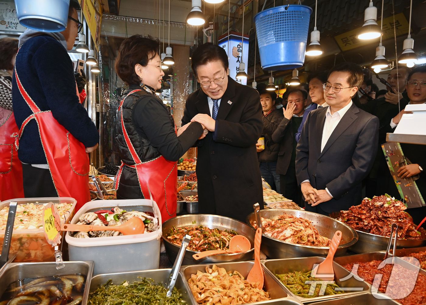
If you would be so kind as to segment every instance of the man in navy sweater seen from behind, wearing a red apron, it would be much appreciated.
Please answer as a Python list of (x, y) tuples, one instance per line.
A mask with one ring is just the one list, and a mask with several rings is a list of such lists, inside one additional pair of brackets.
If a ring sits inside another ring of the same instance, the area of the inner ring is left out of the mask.
[[(72, 61), (67, 53), (74, 46), (82, 28), (78, 21), (79, 9), (78, 1), (71, 0), (68, 23), (62, 32), (27, 29), (19, 38), (20, 50), (16, 56), (15, 70), (35, 105), (41, 111), (51, 111), (58, 123), (84, 145), (86, 152), (92, 152), (98, 147), (99, 133), (80, 104)], [(16, 123), (21, 127), (33, 111), (23, 98), (15, 76), (12, 93)], [(40, 139), (37, 122), (31, 119), (24, 126), (18, 155), (23, 163), (25, 197), (57, 197), (57, 187), (43, 149), (45, 140)]]

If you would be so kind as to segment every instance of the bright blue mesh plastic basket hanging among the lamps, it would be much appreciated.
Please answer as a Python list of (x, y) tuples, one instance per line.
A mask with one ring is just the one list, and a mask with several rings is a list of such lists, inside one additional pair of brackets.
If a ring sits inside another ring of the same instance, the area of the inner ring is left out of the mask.
[(276, 6), (254, 16), (260, 63), (265, 70), (302, 67), (312, 9), (304, 5)]

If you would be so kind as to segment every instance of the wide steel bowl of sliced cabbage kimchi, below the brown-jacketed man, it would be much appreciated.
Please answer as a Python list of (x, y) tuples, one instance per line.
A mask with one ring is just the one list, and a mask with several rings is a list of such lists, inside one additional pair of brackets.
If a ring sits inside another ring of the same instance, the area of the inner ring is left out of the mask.
[[(312, 226), (318, 230), (322, 237), (332, 239), (334, 232), (342, 231), (342, 240), (337, 248), (335, 256), (343, 256), (348, 247), (354, 245), (358, 241), (357, 232), (341, 221), (320, 215), (313, 212), (293, 209), (264, 209), (260, 210), (260, 217), (275, 220), (284, 213), (298, 218), (304, 218), (311, 222)], [(247, 224), (253, 232), (256, 230), (256, 216), (251, 213), (247, 216)], [(292, 229), (290, 227), (290, 229)], [(294, 231), (296, 232), (296, 231)], [(265, 233), (262, 234), (262, 244), (260, 250), (268, 256), (269, 259), (287, 259), (294, 257), (307, 256), (326, 256), (330, 247), (308, 246), (303, 244), (295, 244), (273, 238)]]

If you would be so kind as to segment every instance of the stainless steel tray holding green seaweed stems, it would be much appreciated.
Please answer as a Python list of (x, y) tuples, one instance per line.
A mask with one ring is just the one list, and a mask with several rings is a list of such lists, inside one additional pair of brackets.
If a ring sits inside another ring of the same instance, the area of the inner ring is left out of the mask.
[[(94, 292), (96, 289), (98, 289), (100, 285), (104, 285), (109, 279), (112, 279), (112, 283), (114, 283), (115, 285), (120, 285), (124, 281), (128, 281), (129, 283), (138, 282), (141, 280), (140, 278), (138, 278), (138, 276), (141, 278), (146, 277), (146, 278), (153, 279), (155, 284), (161, 283), (165, 285), (167, 282), (167, 279), (170, 276), (170, 271), (172, 271), (172, 269), (154, 269), (154, 270), (132, 271), (132, 272), (124, 272), (124, 273), (98, 274), (97, 276), (92, 277), (89, 292)], [(180, 273), (176, 280), (175, 287), (179, 290), (179, 293), (181, 293), (182, 300), (185, 301), (185, 304), (188, 304), (188, 305), (197, 304), (197, 303), (193, 303), (193, 298), (191, 298), (192, 293), (190, 290), (187, 289)]]

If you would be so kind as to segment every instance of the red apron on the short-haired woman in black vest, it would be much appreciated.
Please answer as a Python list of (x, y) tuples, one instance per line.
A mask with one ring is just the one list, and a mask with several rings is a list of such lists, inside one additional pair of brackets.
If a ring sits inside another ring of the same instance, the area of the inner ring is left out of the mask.
[[(136, 91), (141, 90), (133, 90), (127, 94), (127, 96)], [(120, 107), (118, 108), (119, 110), (123, 106), (124, 99), (126, 99), (127, 96), (121, 100)], [(150, 198), (150, 193), (148, 191), (149, 185), (151, 194), (153, 195), (153, 200), (157, 203), (158, 208), (160, 209), (161, 221), (164, 222), (167, 219), (175, 217), (177, 207), (176, 181), (178, 178), (176, 162), (168, 161), (164, 159), (163, 156), (157, 157), (154, 160), (142, 162), (136, 153), (132, 142), (130, 142), (129, 135), (124, 127), (123, 111), (121, 111), (121, 128), (123, 129), (127, 148), (129, 148), (130, 154), (132, 154), (135, 165), (127, 165), (121, 162), (120, 170), (115, 176), (115, 189), (118, 189), (123, 167), (126, 165), (131, 168), (136, 168), (142, 194), (144, 195), (144, 198)]]

